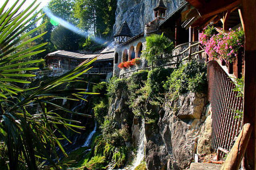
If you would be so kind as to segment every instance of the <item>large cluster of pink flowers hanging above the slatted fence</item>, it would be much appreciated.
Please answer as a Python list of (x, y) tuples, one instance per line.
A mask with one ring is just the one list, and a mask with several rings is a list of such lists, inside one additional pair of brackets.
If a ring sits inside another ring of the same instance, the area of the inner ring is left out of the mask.
[[(206, 27), (199, 33), (199, 41), (205, 47), (209, 60), (220, 59), (227, 63), (235, 61), (236, 56), (244, 45), (244, 31), (239, 27), (236, 30), (216, 33), (214, 27)], [(215, 34), (216, 33), (216, 34)]]

